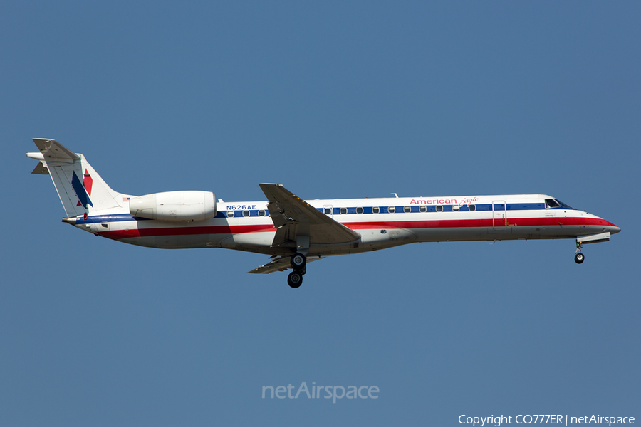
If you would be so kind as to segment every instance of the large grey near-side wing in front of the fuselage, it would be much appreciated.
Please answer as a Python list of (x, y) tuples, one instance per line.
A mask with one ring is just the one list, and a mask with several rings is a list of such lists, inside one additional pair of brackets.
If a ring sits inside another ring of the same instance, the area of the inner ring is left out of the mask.
[(269, 200), (267, 209), (276, 228), (272, 246), (296, 246), (297, 236), (309, 236), (309, 243), (316, 244), (349, 243), (360, 238), (281, 184), (259, 185)]

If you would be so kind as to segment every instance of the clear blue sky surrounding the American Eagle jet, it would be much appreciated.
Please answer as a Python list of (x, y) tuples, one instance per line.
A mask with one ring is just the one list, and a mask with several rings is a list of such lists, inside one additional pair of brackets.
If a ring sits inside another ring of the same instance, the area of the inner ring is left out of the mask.
[[(459, 425), (641, 417), (637, 2), (4, 2), (0, 424)], [(609, 243), (328, 258), (162, 251), (61, 223), (33, 137), (117, 191), (543, 193)], [(378, 399), (261, 399), (262, 386)]]

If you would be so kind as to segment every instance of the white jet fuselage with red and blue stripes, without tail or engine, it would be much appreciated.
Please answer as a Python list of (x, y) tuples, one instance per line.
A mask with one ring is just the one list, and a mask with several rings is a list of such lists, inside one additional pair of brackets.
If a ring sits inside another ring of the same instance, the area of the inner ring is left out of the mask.
[[(310, 242), (309, 255), (375, 251), (413, 242), (577, 238), (617, 233), (613, 223), (569, 206), (547, 206), (542, 194), (329, 199), (306, 202), (360, 235), (351, 243)], [(75, 226), (98, 236), (153, 248), (229, 248), (290, 255), (295, 244), (273, 246), (276, 230), (267, 201), (217, 203), (214, 218), (157, 221), (125, 209), (78, 216)]]

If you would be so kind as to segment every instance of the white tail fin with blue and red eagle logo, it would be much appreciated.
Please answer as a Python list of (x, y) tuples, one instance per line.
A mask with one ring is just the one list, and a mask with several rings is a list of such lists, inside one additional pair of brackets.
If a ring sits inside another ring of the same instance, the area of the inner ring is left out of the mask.
[(27, 157), (40, 160), (34, 174), (51, 175), (67, 217), (121, 206), (123, 196), (95, 172), (82, 154), (69, 151), (55, 139), (33, 138), (40, 153)]

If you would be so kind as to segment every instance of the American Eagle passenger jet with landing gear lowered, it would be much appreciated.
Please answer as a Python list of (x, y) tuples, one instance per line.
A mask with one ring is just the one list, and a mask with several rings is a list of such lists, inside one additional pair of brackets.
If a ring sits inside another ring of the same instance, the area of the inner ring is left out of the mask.
[(33, 138), (39, 161), (80, 230), (151, 248), (227, 248), (271, 255), (248, 273), (291, 269), (303, 283), (307, 263), (331, 255), (377, 251), (417, 242), (576, 239), (609, 241), (621, 229), (544, 194), (303, 200), (281, 184), (259, 184), (267, 201), (216, 199), (211, 191), (132, 196), (113, 191), (83, 154), (55, 139)]

